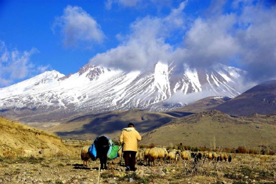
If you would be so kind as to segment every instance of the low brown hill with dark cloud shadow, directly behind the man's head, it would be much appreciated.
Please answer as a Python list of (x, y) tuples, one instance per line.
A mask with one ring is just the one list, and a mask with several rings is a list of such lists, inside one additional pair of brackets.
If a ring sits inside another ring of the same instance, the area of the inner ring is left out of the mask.
[(63, 138), (93, 139), (106, 134), (117, 140), (121, 129), (129, 122), (134, 123), (141, 133), (151, 131), (170, 122), (175, 117), (142, 109), (110, 111), (99, 114), (86, 114), (60, 123), (48, 129)]

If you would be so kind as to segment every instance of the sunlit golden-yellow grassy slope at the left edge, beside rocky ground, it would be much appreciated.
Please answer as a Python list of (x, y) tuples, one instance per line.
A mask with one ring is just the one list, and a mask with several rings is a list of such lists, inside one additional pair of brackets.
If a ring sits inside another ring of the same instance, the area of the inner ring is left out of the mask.
[[(72, 153), (56, 135), (0, 117), (0, 156)], [(39, 153), (40, 152), (40, 153)]]

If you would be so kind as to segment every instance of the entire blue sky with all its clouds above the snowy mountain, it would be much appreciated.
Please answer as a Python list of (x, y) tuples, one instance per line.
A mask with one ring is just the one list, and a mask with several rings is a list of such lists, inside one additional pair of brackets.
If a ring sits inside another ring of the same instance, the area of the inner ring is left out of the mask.
[(125, 70), (221, 62), (270, 79), (275, 15), (273, 0), (0, 0), (0, 87), (89, 61)]

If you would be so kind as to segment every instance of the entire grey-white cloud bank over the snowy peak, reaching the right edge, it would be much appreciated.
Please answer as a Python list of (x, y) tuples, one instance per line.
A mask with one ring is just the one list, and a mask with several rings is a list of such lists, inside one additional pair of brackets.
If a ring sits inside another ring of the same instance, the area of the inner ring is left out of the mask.
[[(235, 65), (255, 81), (276, 77), (276, 7), (264, 1), (213, 0), (197, 17), (185, 13), (188, 1), (166, 16), (145, 16), (130, 24), (130, 33), (119, 35), (120, 44), (91, 58), (92, 64), (135, 70), (158, 60), (180, 67)], [(180, 35), (175, 43), (170, 40)]]

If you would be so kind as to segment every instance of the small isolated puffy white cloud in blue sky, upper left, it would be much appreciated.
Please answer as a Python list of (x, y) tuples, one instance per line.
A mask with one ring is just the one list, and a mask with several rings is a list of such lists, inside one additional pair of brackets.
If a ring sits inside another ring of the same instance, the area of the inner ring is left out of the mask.
[(68, 5), (62, 16), (55, 18), (53, 30), (60, 27), (64, 46), (101, 43), (105, 35), (96, 20), (79, 6)]

